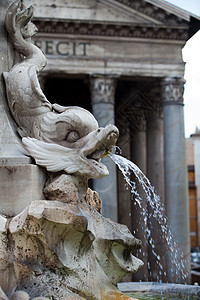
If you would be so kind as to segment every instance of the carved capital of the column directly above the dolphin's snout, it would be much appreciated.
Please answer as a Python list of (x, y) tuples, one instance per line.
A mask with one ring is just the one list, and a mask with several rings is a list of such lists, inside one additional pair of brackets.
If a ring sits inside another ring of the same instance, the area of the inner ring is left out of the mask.
[(92, 74), (90, 91), (92, 103), (112, 103), (115, 100), (116, 78), (118, 75)]

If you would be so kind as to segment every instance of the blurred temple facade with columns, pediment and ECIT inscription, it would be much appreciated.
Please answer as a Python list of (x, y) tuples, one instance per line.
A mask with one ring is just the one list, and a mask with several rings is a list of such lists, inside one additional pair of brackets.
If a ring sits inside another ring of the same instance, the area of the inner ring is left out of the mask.
[[(102, 127), (117, 125), (122, 155), (150, 179), (175, 240), (189, 258), (182, 48), (200, 28), (200, 20), (162, 0), (32, 3), (39, 30), (33, 42), (48, 59), (40, 74), (48, 100), (82, 106)], [(145, 242), (146, 225), (138, 225), (142, 223), (140, 208), (133, 205), (114, 163), (105, 160), (111, 175), (91, 185), (100, 194), (103, 215), (126, 224), (143, 240), (139, 255), (145, 267), (134, 280), (180, 282), (170, 274), (164, 241), (155, 230), (155, 246), (162, 264), (168, 266), (168, 272), (159, 274)], [(149, 210), (145, 197), (143, 207)]]

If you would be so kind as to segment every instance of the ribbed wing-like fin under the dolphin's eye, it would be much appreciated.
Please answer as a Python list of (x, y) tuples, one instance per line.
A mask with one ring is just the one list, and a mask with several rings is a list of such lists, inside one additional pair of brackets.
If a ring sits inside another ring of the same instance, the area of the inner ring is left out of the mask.
[(22, 142), (36, 164), (50, 172), (64, 170), (72, 174), (81, 169), (78, 152), (57, 144), (45, 143), (34, 138), (23, 138)]

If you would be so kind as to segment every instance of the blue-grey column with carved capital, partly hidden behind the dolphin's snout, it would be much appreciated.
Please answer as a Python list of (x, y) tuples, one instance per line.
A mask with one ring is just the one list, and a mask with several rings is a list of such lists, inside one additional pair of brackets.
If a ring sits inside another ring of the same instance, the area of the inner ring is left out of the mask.
[[(115, 124), (115, 78), (97, 75), (90, 78), (92, 113), (100, 127)], [(118, 219), (117, 211), (117, 175), (116, 166), (107, 157), (102, 160), (109, 170), (109, 175), (100, 180), (93, 180), (93, 189), (102, 200), (102, 214), (113, 221)]]

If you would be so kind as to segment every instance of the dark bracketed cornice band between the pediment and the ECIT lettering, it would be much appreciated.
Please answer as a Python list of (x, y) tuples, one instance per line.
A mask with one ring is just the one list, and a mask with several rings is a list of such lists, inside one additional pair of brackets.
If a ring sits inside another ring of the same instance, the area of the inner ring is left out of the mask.
[(106, 37), (128, 37), (147, 39), (186, 40), (188, 27), (145, 26), (110, 23), (69, 22), (64, 20), (51, 21), (35, 19), (34, 23), (40, 33), (73, 34)]

